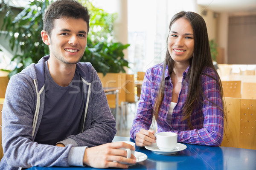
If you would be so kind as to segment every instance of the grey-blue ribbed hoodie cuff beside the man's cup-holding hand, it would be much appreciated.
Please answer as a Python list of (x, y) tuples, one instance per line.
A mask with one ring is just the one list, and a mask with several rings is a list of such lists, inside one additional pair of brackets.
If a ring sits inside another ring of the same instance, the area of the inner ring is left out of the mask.
[(87, 146), (72, 147), (70, 153), (68, 154), (68, 164), (70, 166), (84, 167), (83, 159), (86, 148)]

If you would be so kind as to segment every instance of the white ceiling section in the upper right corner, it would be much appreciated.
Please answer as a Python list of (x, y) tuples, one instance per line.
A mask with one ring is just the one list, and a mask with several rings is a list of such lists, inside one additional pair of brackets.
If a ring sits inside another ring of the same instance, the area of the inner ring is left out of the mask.
[(215, 12), (256, 13), (256, 0), (197, 0), (197, 4)]

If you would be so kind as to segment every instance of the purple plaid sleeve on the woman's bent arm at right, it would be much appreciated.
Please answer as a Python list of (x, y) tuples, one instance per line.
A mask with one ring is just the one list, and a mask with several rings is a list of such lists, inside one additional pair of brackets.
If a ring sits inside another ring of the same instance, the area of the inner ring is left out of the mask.
[[(224, 113), (218, 82), (215, 80), (217, 79), (217, 75), (214, 71), (208, 71), (206, 74), (201, 76), (203, 104), (200, 111), (198, 111), (198, 109), (195, 110), (198, 113), (201, 112), (201, 116), (204, 116), (204, 119), (202, 122), (196, 120), (196, 117), (194, 117), (194, 120), (191, 120), (197, 124), (202, 124), (202, 128), (184, 131), (174, 130), (173, 132), (178, 134), (178, 142), (210, 146), (219, 146), (222, 142)], [(197, 126), (200, 127), (200, 125)]]

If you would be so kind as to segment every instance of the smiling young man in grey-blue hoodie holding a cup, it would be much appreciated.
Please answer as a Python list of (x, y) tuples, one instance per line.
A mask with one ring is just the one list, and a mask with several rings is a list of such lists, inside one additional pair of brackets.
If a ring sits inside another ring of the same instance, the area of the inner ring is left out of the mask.
[(131, 145), (107, 143), (116, 133), (116, 122), (95, 69), (79, 62), (89, 18), (87, 8), (74, 0), (58, 0), (47, 9), (41, 37), (50, 54), (13, 76), (6, 90), (0, 169), (127, 168), (118, 161), (136, 162), (118, 149), (134, 150)]

